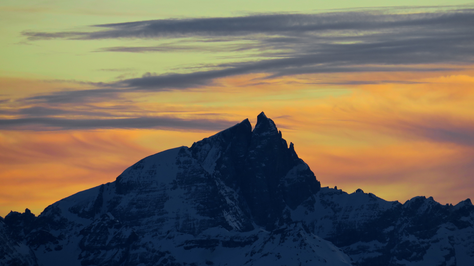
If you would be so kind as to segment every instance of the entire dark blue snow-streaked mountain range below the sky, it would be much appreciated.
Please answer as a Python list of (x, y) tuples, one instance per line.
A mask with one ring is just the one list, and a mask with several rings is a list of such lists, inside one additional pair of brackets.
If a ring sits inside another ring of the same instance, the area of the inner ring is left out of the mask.
[(474, 206), (320, 187), (262, 112), (0, 221), (1, 265), (473, 265)]

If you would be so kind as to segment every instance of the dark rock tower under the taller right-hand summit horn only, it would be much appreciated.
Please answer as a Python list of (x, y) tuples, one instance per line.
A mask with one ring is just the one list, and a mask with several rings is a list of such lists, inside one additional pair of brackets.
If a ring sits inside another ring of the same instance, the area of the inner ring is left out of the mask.
[(270, 230), (282, 218), (286, 205), (296, 208), (321, 187), (263, 112), (257, 116), (243, 169), (242, 193), (254, 221)]

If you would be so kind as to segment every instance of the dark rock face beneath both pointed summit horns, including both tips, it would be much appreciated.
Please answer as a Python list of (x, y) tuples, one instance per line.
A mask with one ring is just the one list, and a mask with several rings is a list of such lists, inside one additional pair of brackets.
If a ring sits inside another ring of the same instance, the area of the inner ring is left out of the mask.
[[(198, 160), (219, 156), (215, 165), (209, 166), (213, 174), (240, 192), (245, 205), (239, 207), (248, 208), (246, 216), (252, 216), (253, 222), (268, 230), (282, 224), (279, 220), (286, 206), (296, 208), (321, 187), (310, 168), (298, 158), (293, 144), (288, 148), (282, 133), (263, 112), (257, 116), (253, 131), (246, 119), (194, 143), (190, 150)], [(206, 163), (201, 161), (207, 167)], [(253, 226), (248, 221), (244, 228), (252, 230)]]

